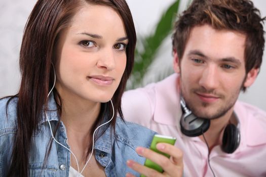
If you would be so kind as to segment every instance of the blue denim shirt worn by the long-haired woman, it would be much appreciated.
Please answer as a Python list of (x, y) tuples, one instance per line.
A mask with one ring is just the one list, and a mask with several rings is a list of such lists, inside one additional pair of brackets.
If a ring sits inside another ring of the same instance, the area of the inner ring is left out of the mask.
[[(6, 176), (11, 163), (14, 138), (17, 132), (17, 98), (13, 99), (8, 106), (8, 116), (6, 115), (6, 104), (8, 99), (0, 100), (0, 176)], [(56, 104), (50, 97), (48, 118), (52, 129), (59, 121)], [(39, 125), (32, 137), (29, 153), (29, 174), (30, 176), (68, 176), (70, 166), (70, 152), (52, 142), (51, 152), (44, 164), (45, 155), (51, 140), (51, 131), (47, 119), (42, 113)], [(104, 127), (100, 130), (105, 130)], [(149, 147), (155, 135), (141, 125), (124, 122), (120, 117), (117, 118), (115, 133), (113, 128), (108, 126), (104, 134), (95, 142), (95, 159), (104, 167), (106, 176), (125, 176), (131, 172), (139, 176), (137, 172), (126, 165), (128, 159), (144, 164), (145, 158), (139, 156), (135, 149), (137, 146)], [(63, 122), (55, 134), (55, 139), (70, 148), (67, 144), (66, 129)], [(20, 159), (14, 159), (20, 160)]]

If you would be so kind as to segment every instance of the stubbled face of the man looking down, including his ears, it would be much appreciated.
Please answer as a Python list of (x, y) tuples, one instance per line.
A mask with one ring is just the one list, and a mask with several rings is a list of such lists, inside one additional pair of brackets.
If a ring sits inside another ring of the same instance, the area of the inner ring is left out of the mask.
[(175, 57), (174, 68), (180, 73), (181, 94), (197, 116), (224, 115), (233, 109), (242, 86), (253, 83), (255, 69), (245, 72), (245, 39), (242, 33), (209, 25), (192, 29), (181, 63)]

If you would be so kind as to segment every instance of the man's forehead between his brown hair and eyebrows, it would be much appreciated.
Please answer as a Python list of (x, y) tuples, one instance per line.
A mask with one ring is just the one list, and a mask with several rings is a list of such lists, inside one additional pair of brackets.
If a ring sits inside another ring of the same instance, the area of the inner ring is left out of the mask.
[(233, 30), (217, 30), (210, 25), (195, 26), (186, 42), (184, 55), (236, 58), (244, 62), (246, 35)]

